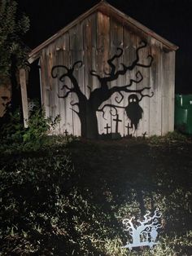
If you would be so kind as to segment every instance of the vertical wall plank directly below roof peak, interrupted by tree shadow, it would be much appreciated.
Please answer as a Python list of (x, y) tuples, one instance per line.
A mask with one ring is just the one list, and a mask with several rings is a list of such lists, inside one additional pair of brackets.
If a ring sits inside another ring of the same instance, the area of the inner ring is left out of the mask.
[[(109, 66), (107, 64), (107, 60), (109, 59), (109, 49), (110, 49), (110, 18), (107, 15), (103, 15), (103, 13), (98, 12), (97, 16), (97, 52), (98, 52), (98, 67), (96, 72), (101, 77), (104, 77), (104, 72), (109, 72)], [(100, 85), (99, 85), (100, 86)], [(110, 85), (109, 85), (110, 86)], [(111, 104), (111, 99), (106, 100), (100, 106), (103, 107), (104, 104)], [(111, 126), (111, 114), (106, 110), (105, 118), (103, 118), (103, 113), (98, 112), (98, 132), (100, 135), (106, 134), (105, 126), (107, 123)]]

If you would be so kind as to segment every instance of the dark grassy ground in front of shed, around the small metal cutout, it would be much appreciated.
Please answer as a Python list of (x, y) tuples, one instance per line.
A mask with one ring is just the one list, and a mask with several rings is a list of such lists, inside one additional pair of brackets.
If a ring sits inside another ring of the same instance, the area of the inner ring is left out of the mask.
[[(2, 151), (1, 255), (192, 255), (191, 152), (177, 135)], [(160, 244), (122, 249), (122, 219), (156, 207)]]

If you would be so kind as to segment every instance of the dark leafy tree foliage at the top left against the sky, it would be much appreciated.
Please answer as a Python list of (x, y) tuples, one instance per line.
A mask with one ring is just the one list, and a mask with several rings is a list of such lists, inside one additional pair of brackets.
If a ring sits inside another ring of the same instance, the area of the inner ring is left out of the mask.
[(22, 36), (29, 29), (29, 19), (20, 14), (17, 2), (0, 1), (0, 78), (11, 77), (13, 57), (16, 66), (21, 67), (27, 55), (27, 47), (22, 42)]

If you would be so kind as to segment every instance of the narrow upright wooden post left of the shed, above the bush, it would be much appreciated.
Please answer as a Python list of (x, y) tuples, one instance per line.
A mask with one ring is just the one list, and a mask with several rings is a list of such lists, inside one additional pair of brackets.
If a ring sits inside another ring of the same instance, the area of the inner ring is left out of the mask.
[(20, 91), (22, 99), (22, 110), (24, 117), (24, 128), (28, 127), (28, 92), (27, 92), (28, 71), (20, 68)]

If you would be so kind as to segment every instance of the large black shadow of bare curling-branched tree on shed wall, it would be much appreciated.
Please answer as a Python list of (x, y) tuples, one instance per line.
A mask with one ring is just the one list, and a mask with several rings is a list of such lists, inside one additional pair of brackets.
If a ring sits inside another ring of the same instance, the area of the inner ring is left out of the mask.
[(72, 108), (72, 111), (75, 112), (81, 121), (81, 136), (84, 138), (90, 138), (90, 139), (97, 139), (98, 138), (98, 119), (97, 119), (97, 112), (103, 112), (103, 108), (105, 107), (113, 107), (114, 105), (104, 105), (103, 108), (99, 108), (103, 102), (105, 102), (107, 99), (110, 99), (111, 95), (118, 92), (121, 95), (121, 100), (124, 98), (124, 93), (137, 93), (141, 95), (141, 99), (144, 96), (151, 97), (152, 95), (144, 95), (144, 90), (150, 90), (150, 87), (143, 87), (140, 90), (132, 90), (130, 87), (133, 85), (133, 83), (139, 83), (142, 81), (142, 73), (140, 71), (137, 71), (135, 79), (130, 79), (129, 84), (127, 85), (120, 85), (120, 86), (113, 86), (110, 87), (110, 82), (116, 81), (118, 77), (123, 76), (125, 73), (133, 70), (133, 68), (136, 67), (142, 67), (142, 68), (150, 68), (153, 57), (151, 55), (147, 56), (148, 64), (140, 64), (139, 59), (139, 51), (142, 48), (146, 47), (146, 42), (141, 42), (141, 46), (137, 47), (136, 49), (136, 58), (133, 60), (132, 64), (127, 66), (126, 64), (121, 64), (121, 68), (117, 69), (116, 65), (113, 63), (114, 60), (119, 59), (121, 55), (123, 55), (123, 49), (117, 48), (116, 55), (113, 55), (111, 59), (107, 60), (107, 64), (110, 67), (110, 72), (106, 73), (103, 72), (103, 77), (99, 76), (98, 73), (95, 70), (90, 70), (90, 75), (97, 77), (99, 82), (99, 87), (91, 90), (90, 89), (90, 95), (89, 99), (86, 98), (86, 96), (81, 91), (81, 86), (78, 84), (76, 77), (74, 76), (74, 70), (77, 65), (82, 66), (82, 61), (76, 61), (72, 65), (72, 68), (68, 68), (63, 65), (56, 65), (52, 68), (51, 74), (52, 77), (57, 78), (59, 75), (55, 70), (58, 68), (63, 68), (64, 73), (63, 75), (59, 76), (60, 82), (65, 82), (65, 77), (68, 77), (70, 81), (72, 82), (72, 87), (68, 85), (63, 85), (63, 90), (65, 90), (65, 94), (63, 96), (59, 95), (59, 98), (67, 98), (69, 94), (75, 93), (78, 97), (78, 102), (72, 103), (72, 107), (77, 106), (78, 111)]

